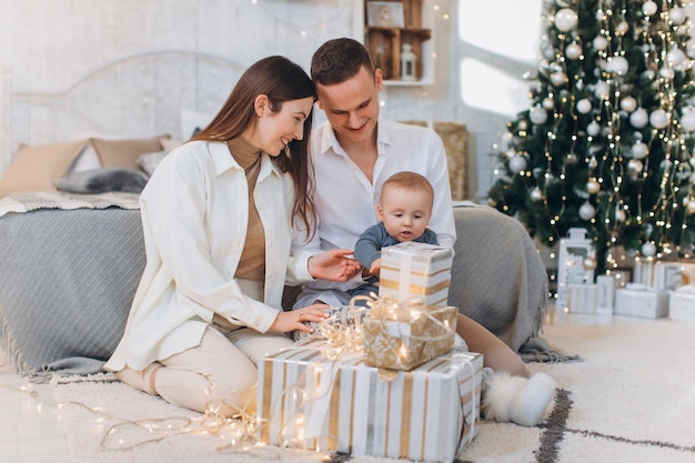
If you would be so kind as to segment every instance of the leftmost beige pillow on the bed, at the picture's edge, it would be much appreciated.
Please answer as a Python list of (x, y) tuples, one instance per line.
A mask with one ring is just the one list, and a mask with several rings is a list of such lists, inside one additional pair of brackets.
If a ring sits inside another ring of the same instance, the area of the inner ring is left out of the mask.
[(56, 190), (53, 182), (63, 177), (88, 140), (21, 145), (0, 180), (0, 198), (14, 191)]

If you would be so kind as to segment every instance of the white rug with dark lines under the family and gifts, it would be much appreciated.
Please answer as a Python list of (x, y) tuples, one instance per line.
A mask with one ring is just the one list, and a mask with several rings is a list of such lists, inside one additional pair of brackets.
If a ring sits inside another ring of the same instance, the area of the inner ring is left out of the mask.
[[(694, 462), (694, 335), (695, 322), (667, 319), (546, 326), (543, 336), (551, 344), (583, 360), (528, 364), (560, 384), (553, 414), (531, 429), (481, 423), (459, 461)], [(195, 413), (110, 379), (34, 386), (37, 400), (58, 406), (75, 463), (394, 462), (274, 446), (243, 450), (232, 443), (232, 426), (214, 430)], [(148, 424), (157, 429), (148, 431)]]

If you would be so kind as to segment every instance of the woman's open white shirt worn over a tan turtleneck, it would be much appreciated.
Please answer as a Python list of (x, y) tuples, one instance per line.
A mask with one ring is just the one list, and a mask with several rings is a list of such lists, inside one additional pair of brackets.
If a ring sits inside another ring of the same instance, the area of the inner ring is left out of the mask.
[(285, 281), (311, 280), (309, 251), (292, 250), (293, 184), (263, 154), (254, 200), (265, 230), (265, 302), (234, 280), (249, 220), (243, 168), (225, 143), (193, 141), (168, 154), (140, 197), (147, 264), (125, 332), (105, 368), (141, 370), (198, 345), (214, 313), (265, 332)]

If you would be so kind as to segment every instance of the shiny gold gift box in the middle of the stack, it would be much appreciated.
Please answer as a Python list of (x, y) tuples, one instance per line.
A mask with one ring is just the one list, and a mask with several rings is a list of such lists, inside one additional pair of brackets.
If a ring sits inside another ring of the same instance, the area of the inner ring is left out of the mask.
[(453, 349), (459, 309), (380, 302), (362, 321), (367, 365), (407, 371)]

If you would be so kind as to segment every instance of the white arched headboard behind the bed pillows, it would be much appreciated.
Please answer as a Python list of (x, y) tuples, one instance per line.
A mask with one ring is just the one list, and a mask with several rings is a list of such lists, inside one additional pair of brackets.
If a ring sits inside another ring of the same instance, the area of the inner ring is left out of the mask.
[(22, 143), (164, 133), (180, 139), (181, 111), (214, 114), (246, 66), (200, 51), (153, 50), (105, 62), (50, 92), (26, 91), (6, 74), (0, 171)]

